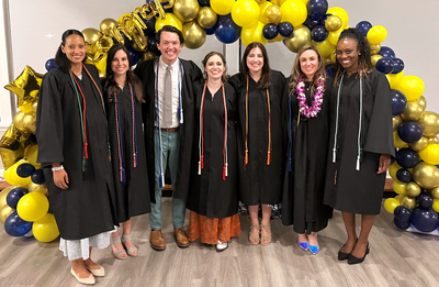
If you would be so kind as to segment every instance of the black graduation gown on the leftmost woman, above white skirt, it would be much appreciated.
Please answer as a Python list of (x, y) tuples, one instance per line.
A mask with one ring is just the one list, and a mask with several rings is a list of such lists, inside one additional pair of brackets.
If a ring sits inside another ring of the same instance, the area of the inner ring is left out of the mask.
[[(102, 91), (95, 67), (86, 67)], [(103, 102), (86, 70), (82, 80), (76, 79), (86, 98), (89, 158), (85, 173), (81, 112), (68, 73), (55, 68), (44, 76), (36, 113), (37, 162), (44, 167), (50, 210), (65, 240), (90, 238), (117, 225)], [(85, 107), (80, 93), (79, 99)], [(55, 186), (52, 163), (64, 165), (69, 178), (67, 189)]]

